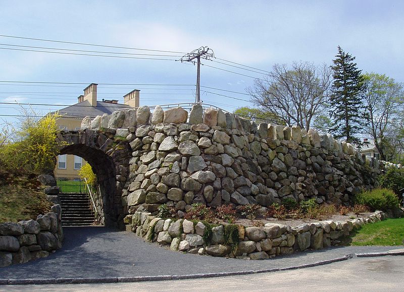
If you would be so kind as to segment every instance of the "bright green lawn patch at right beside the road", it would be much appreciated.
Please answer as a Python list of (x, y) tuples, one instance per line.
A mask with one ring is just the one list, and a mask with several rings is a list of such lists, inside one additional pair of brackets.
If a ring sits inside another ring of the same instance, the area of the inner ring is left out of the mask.
[(400, 246), (404, 240), (404, 218), (366, 224), (348, 238), (347, 245)]

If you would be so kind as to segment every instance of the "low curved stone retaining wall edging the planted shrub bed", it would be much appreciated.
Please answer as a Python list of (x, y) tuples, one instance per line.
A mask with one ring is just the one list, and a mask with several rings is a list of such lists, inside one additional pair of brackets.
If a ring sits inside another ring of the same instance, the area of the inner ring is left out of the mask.
[[(365, 223), (384, 219), (382, 211), (376, 211), (368, 218), (342, 222), (331, 220), (290, 227), (267, 223), (264, 227), (237, 225), (238, 244), (231, 245), (224, 232), (225, 225), (213, 225), (207, 233), (206, 223), (201, 221), (162, 219), (148, 212), (135, 212), (127, 223), (136, 235), (149, 242), (171, 250), (216, 257), (238, 259), (268, 259), (278, 255), (290, 255), (305, 250), (319, 250), (338, 245), (344, 236)], [(205, 240), (204, 240), (205, 238)]]

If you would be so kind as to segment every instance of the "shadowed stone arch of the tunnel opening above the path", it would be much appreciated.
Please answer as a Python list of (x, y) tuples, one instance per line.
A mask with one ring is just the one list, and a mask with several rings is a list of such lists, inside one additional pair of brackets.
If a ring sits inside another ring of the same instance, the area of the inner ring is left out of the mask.
[(123, 217), (127, 210), (121, 197), (128, 177), (129, 144), (115, 141), (113, 133), (92, 130), (60, 132), (57, 142), (60, 154), (80, 156), (92, 166), (102, 197), (101, 221), (109, 227), (124, 228)]

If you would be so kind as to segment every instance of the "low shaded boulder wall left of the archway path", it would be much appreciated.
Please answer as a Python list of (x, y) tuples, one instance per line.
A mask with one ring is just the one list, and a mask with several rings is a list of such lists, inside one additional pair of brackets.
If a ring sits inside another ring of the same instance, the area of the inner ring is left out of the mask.
[(0, 267), (47, 257), (62, 247), (62, 209), (59, 204), (51, 209), (35, 220), (0, 224)]

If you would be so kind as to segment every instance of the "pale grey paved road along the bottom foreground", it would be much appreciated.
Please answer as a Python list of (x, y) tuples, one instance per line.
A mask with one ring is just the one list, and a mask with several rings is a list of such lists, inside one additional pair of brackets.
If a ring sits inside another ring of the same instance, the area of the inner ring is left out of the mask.
[(402, 291), (402, 256), (252, 275), (110, 284), (0, 286), (7, 291)]

